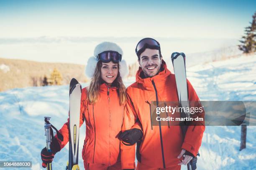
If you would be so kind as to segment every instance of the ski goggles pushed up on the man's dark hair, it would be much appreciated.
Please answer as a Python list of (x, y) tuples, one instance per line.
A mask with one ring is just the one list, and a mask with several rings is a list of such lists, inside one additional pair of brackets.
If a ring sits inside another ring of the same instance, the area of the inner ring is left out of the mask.
[(141, 50), (143, 50), (146, 47), (160, 49), (160, 44), (153, 38), (143, 38), (138, 42), (136, 46), (136, 49), (135, 49), (136, 54), (138, 55), (138, 53), (140, 53)]

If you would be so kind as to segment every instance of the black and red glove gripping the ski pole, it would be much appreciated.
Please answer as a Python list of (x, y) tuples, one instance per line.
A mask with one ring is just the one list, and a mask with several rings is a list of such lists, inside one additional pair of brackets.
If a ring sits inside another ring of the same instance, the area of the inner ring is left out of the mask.
[(60, 145), (56, 138), (51, 142), (50, 144), (51, 152), (48, 152), (46, 147), (42, 149), (41, 151), (41, 159), (43, 161), (42, 167), (46, 168), (47, 163), (51, 163), (54, 155), (60, 151)]

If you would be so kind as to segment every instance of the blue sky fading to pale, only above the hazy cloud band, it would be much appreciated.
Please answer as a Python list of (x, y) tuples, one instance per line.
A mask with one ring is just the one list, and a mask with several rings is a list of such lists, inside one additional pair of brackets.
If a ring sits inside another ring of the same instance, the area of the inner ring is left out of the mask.
[(256, 1), (0, 0), (0, 38), (240, 38)]

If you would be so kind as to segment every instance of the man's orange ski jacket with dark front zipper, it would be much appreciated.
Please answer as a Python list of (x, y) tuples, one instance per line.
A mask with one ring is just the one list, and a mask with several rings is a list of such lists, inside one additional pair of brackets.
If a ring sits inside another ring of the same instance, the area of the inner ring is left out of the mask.
[[(179, 101), (174, 74), (166, 68), (163, 61), (161, 70), (154, 77), (142, 78), (142, 69), (136, 73), (136, 82), (127, 88), (127, 107), (123, 120), (122, 131), (139, 128), (141, 123), (143, 138), (137, 143), (137, 160), (144, 165), (156, 168), (177, 168), (180, 160), (177, 156), (182, 149), (197, 155), (202, 142), (204, 125), (189, 126), (185, 138), (180, 126), (162, 126), (151, 124), (151, 101)], [(199, 98), (187, 80), (189, 101), (199, 101)], [(197, 102), (198, 103), (198, 102)], [(190, 106), (191, 107), (191, 106)], [(201, 116), (204, 116), (204, 112)], [(193, 122), (196, 123), (197, 122)], [(139, 146), (139, 147), (138, 147)], [(135, 168), (135, 144), (125, 145), (121, 141), (121, 164), (123, 169)]]

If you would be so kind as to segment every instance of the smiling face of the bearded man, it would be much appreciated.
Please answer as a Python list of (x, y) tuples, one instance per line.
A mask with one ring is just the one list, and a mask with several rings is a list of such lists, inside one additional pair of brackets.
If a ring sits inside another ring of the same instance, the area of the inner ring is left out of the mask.
[(159, 50), (146, 48), (141, 53), (138, 62), (145, 77), (153, 77), (158, 74), (161, 68), (162, 57), (159, 56)]

